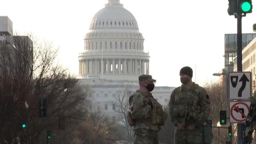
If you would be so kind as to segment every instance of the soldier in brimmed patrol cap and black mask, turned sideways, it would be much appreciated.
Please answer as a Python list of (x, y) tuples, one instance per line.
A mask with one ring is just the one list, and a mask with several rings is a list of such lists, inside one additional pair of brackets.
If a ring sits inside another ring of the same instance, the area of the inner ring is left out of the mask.
[(127, 120), (135, 131), (134, 144), (158, 144), (158, 132), (167, 118), (162, 105), (150, 93), (153, 82), (156, 80), (150, 75), (139, 76), (140, 90), (129, 98)]

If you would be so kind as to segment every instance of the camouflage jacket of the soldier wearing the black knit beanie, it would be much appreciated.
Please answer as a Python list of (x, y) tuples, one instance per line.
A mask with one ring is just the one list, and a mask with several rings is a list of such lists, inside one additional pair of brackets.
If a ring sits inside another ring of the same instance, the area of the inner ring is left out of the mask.
[(193, 83), (190, 89), (182, 85), (170, 96), (169, 112), (174, 124), (202, 126), (210, 114), (210, 98), (198, 84)]

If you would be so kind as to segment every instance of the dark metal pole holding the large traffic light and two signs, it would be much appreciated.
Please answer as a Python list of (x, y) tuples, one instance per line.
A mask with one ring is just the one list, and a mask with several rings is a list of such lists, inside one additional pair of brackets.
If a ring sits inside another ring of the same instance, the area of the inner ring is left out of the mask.
[[(237, 14), (237, 71), (242, 72), (242, 14)], [(237, 142), (243, 144), (244, 124), (238, 124)]]

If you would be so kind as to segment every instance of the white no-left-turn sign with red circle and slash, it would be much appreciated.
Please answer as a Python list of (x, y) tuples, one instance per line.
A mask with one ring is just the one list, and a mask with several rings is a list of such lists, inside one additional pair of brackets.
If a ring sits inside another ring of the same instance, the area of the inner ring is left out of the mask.
[(249, 113), (250, 101), (229, 102), (230, 123), (244, 123)]

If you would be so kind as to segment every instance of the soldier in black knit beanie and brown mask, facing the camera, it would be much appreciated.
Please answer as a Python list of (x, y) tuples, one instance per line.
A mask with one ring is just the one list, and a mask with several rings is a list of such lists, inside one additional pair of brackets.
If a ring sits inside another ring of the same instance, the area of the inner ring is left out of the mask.
[(206, 90), (192, 82), (193, 70), (180, 70), (182, 86), (170, 96), (169, 112), (176, 126), (175, 144), (203, 144), (203, 123), (210, 114), (210, 98)]

